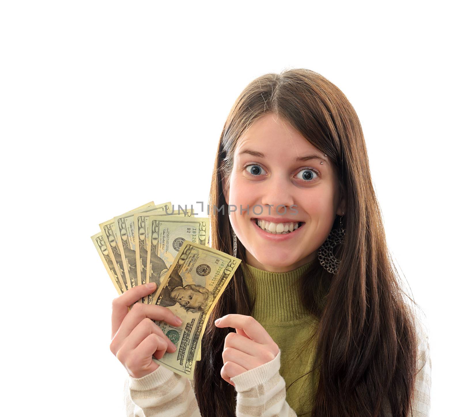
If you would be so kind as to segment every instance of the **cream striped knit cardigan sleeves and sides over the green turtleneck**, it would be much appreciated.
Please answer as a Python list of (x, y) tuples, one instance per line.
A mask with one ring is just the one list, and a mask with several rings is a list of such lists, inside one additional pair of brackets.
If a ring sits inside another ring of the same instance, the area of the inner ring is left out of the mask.
[[(426, 326), (418, 322), (417, 330), (419, 355), (412, 401), (413, 417), (427, 417), (430, 409), (431, 357)], [(285, 400), (285, 380), (279, 373), (280, 353), (279, 350), (272, 361), (231, 378), (237, 393), (237, 417), (296, 417), (295, 411)], [(162, 366), (142, 378), (128, 375), (124, 395), (127, 417), (201, 417), (189, 379)]]

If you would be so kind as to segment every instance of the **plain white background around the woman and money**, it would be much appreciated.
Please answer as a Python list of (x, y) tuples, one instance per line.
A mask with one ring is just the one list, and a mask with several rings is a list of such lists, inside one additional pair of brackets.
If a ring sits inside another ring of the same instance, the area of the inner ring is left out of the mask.
[(2, 2), (1, 414), (124, 416), (126, 371), (109, 350), (117, 292), (90, 236), (150, 200), (207, 202), (233, 102), (255, 77), (296, 67), (335, 83), (359, 115), (388, 244), (427, 315), (431, 415), (452, 414), (453, 5)]

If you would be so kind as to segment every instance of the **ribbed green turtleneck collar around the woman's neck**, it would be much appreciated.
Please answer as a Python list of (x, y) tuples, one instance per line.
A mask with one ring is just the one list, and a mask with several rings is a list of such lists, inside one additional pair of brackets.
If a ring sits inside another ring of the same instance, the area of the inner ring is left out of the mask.
[(269, 272), (246, 264), (242, 268), (248, 294), (255, 299), (251, 315), (260, 323), (302, 321), (309, 311), (299, 298), (299, 278), (312, 262), (288, 272)]

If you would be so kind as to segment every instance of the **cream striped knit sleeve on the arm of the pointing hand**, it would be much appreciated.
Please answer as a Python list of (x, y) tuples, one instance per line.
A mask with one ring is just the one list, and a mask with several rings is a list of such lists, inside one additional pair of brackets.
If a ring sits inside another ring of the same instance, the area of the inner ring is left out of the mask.
[(286, 402), (285, 380), (279, 373), (280, 349), (272, 361), (231, 378), (237, 392), (236, 417), (296, 417)]

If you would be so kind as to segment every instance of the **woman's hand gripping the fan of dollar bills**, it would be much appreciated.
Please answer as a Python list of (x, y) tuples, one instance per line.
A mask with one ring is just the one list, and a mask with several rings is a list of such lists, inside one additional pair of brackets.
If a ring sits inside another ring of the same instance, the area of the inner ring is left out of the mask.
[(155, 283), (136, 286), (112, 301), (110, 349), (133, 378), (148, 375), (160, 366), (152, 360), (152, 356), (160, 359), (165, 351), (176, 351), (176, 346), (153, 320), (178, 326), (181, 322), (177, 321), (177, 316), (160, 305), (136, 303), (154, 292), (155, 288)]

